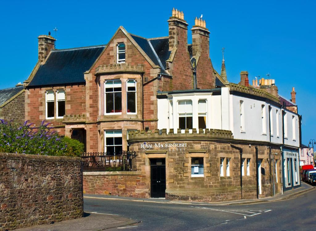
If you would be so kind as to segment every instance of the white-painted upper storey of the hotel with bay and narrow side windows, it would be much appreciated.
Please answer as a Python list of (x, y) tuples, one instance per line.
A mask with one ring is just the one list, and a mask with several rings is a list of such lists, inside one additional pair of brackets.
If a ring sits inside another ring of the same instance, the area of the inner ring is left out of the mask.
[(284, 118), (284, 144), (299, 147), (298, 115), (268, 102), (230, 94), (229, 87), (221, 88), (220, 94), (218, 90), (170, 92), (158, 98), (158, 129), (167, 128), (169, 132), (172, 128), (176, 133), (178, 128), (189, 128), (192, 132), (192, 128), (198, 131), (206, 125), (209, 129), (230, 130), (234, 139), (282, 144)]

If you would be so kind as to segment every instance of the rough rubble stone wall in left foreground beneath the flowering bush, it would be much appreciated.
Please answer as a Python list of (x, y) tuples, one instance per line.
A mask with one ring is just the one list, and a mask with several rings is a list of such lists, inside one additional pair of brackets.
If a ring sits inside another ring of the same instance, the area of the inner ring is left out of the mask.
[(0, 230), (82, 214), (80, 158), (0, 153)]

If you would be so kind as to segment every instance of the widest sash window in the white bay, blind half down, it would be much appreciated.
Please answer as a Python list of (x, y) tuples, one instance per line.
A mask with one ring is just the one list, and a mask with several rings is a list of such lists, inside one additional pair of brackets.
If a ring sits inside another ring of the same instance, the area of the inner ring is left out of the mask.
[(178, 116), (179, 116), (179, 128), (180, 129), (192, 129), (192, 101), (183, 100), (179, 101), (178, 105)]

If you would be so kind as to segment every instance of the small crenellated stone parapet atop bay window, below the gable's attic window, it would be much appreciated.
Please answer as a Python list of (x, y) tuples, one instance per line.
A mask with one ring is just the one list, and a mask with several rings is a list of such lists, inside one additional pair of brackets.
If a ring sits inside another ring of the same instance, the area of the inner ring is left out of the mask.
[(120, 73), (120, 72), (134, 72), (144, 73), (144, 65), (131, 65), (127, 63), (119, 63), (112, 65), (101, 65), (95, 68), (95, 75), (108, 74), (108, 73)]

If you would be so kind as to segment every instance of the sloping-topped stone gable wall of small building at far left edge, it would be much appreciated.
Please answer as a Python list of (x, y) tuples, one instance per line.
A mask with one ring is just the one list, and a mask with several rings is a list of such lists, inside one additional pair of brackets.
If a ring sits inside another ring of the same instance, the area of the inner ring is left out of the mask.
[(17, 123), (23, 123), (25, 121), (24, 92), (0, 108), (0, 119), (4, 119), (6, 121), (13, 120), (13, 122)]

